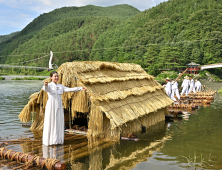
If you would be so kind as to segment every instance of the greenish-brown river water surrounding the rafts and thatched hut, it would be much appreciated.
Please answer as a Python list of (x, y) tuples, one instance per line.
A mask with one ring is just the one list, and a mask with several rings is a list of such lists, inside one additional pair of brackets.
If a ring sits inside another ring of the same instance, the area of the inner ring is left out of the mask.
[[(221, 82), (202, 82), (218, 90)], [(0, 137), (33, 136), (22, 127), (18, 115), (29, 96), (41, 89), (42, 81), (0, 81)], [(222, 95), (210, 106), (201, 106), (184, 118), (160, 122), (138, 142), (98, 148), (89, 156), (67, 164), (67, 169), (222, 169)], [(78, 167), (78, 168), (77, 168)]]

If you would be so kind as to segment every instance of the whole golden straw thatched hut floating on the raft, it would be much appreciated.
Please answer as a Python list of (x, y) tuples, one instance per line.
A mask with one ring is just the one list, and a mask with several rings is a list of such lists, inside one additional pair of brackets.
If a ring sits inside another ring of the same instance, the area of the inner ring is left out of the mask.
[[(140, 131), (141, 125), (148, 128), (165, 120), (166, 107), (173, 103), (163, 87), (137, 64), (68, 62), (57, 72), (58, 83), (88, 89), (64, 93), (62, 100), (69, 121), (79, 114), (87, 115), (90, 140), (119, 140), (120, 135)], [(19, 115), (22, 122), (28, 122), (35, 113), (32, 131), (43, 129), (47, 99), (43, 90), (32, 94)]]

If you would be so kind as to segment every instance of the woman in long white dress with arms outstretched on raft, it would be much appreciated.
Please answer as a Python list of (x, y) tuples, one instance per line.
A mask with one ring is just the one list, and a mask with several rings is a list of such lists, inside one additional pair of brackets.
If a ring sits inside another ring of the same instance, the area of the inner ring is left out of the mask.
[(42, 139), (42, 143), (46, 146), (64, 143), (64, 110), (61, 98), (63, 92), (87, 90), (85, 87), (68, 88), (57, 84), (59, 75), (56, 71), (51, 72), (50, 77), (52, 82), (44, 82), (42, 88), (48, 94)]

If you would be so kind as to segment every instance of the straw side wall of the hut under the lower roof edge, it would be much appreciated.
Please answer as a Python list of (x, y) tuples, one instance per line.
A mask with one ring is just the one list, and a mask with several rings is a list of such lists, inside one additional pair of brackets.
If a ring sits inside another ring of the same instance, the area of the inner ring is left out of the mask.
[(141, 125), (149, 128), (158, 122), (165, 120), (165, 109), (159, 109), (156, 112), (151, 112), (134, 121), (125, 123), (124, 125), (111, 130), (110, 119), (103, 116), (103, 131), (106, 140), (119, 140), (120, 136), (127, 136), (128, 133), (141, 131)]

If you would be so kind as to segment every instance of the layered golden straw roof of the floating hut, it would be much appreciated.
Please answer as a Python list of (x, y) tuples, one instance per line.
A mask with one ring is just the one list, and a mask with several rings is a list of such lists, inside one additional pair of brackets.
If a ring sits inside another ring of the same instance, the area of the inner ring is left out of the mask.
[[(57, 72), (60, 77), (59, 83), (64, 86), (85, 86), (88, 89), (87, 96), (91, 103), (100, 107), (110, 119), (112, 129), (173, 103), (154, 77), (148, 75), (137, 64), (68, 62), (62, 64)], [(83, 101), (87, 99), (77, 99), (77, 94), (80, 93), (62, 96), (64, 108), (68, 108), (68, 100), (73, 99), (76, 101), (72, 104), (72, 111), (81, 111), (77, 107), (86, 105)], [(40, 98), (36, 97), (36, 101), (40, 101)], [(87, 108), (83, 110), (86, 112)]]

